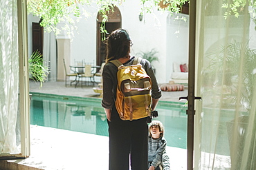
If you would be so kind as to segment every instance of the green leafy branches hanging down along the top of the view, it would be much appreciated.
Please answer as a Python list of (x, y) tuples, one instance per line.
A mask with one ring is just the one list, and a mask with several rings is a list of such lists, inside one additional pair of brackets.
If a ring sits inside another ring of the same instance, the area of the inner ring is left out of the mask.
[[(62, 26), (62, 30), (66, 30), (68, 34), (73, 34), (76, 28), (75, 23), (79, 22), (82, 17), (91, 17), (91, 13), (86, 11), (83, 7), (97, 8), (102, 15), (101, 33), (105, 37), (107, 30), (105, 30), (105, 22), (108, 21), (107, 14), (113, 11), (113, 6), (120, 5), (125, 0), (27, 0), (28, 14), (33, 14), (42, 19), (40, 25), (44, 27), (47, 32), (55, 32), (60, 34), (61, 29), (57, 28), (58, 23), (66, 23)], [(154, 14), (154, 9), (167, 10), (171, 13), (181, 12), (182, 6), (190, 0), (138, 0), (141, 3), (140, 14), (151, 13)], [(256, 1), (254, 0), (223, 0), (222, 8), (226, 8), (224, 17), (229, 14), (239, 16), (239, 11), (244, 8), (249, 8), (253, 21), (256, 22), (255, 9)], [(75, 17), (73, 17), (75, 16)]]

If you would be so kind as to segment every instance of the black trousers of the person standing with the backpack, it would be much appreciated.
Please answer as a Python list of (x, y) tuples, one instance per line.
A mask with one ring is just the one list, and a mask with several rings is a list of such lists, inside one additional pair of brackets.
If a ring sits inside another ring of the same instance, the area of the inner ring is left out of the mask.
[(121, 120), (111, 116), (109, 123), (109, 170), (147, 170), (147, 118)]

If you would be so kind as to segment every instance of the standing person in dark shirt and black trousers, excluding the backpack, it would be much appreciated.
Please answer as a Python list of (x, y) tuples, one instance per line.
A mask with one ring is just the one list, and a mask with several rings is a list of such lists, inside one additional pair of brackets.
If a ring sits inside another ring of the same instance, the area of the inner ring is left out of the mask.
[[(128, 170), (129, 160), (132, 170), (147, 169), (147, 118), (121, 120), (115, 105), (118, 68), (110, 61), (118, 59), (123, 65), (132, 65), (134, 56), (130, 56), (130, 47), (131, 39), (126, 30), (115, 30), (107, 38), (107, 59), (102, 71), (102, 107), (109, 124), (109, 170)], [(161, 89), (149, 61), (142, 59), (140, 64), (152, 81), (151, 109), (154, 110), (158, 98), (161, 98)]]

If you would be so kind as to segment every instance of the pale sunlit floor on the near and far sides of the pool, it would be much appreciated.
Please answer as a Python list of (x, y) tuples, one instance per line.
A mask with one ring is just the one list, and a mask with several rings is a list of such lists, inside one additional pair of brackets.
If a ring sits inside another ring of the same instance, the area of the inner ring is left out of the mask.
[[(39, 83), (30, 82), (30, 92), (99, 97), (92, 87), (65, 87), (64, 82), (44, 83), (41, 89)], [(187, 93), (186, 89), (182, 92), (163, 92), (161, 100), (179, 102), (179, 96), (187, 96)], [(10, 160), (18, 164), (19, 169), (108, 169), (108, 138), (105, 136), (31, 125), (30, 142), (29, 158)], [(185, 149), (167, 147), (167, 153), (172, 169), (186, 169)]]

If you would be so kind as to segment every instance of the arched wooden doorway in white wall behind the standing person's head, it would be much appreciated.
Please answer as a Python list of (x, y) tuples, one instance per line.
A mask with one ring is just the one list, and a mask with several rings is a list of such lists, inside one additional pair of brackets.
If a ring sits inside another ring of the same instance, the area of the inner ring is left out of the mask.
[[(106, 45), (102, 43), (101, 34), (100, 34), (100, 25), (102, 23), (102, 17), (98, 12), (97, 16), (97, 59), (96, 64), (101, 65), (106, 58)], [(111, 33), (113, 30), (122, 27), (122, 17), (118, 7), (113, 8), (113, 12), (109, 12), (108, 21), (106, 22), (106, 30)], [(107, 35), (108, 36), (108, 35)]]

